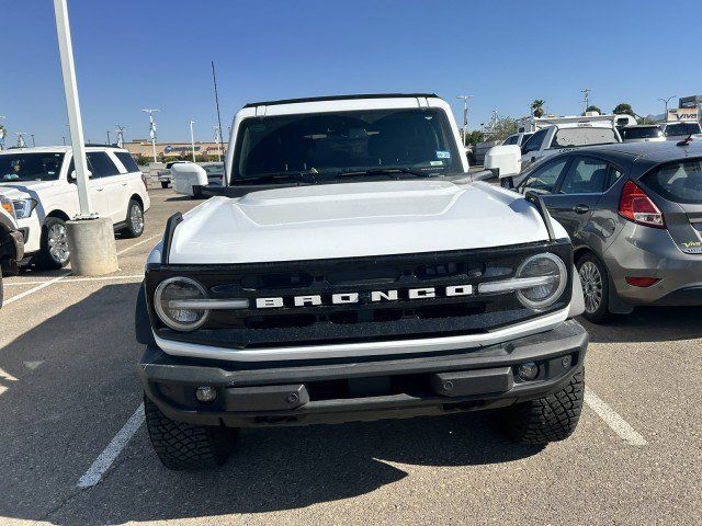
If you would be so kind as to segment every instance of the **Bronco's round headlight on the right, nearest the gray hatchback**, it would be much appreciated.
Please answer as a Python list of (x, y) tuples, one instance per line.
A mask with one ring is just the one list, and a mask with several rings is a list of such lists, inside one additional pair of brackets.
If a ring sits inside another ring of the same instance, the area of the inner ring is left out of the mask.
[(550, 253), (536, 254), (524, 261), (517, 270), (517, 279), (533, 279), (536, 285), (519, 288), (517, 297), (524, 307), (543, 310), (553, 305), (563, 294), (568, 281), (566, 265), (561, 258)]

